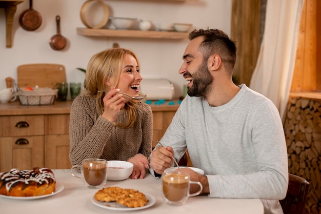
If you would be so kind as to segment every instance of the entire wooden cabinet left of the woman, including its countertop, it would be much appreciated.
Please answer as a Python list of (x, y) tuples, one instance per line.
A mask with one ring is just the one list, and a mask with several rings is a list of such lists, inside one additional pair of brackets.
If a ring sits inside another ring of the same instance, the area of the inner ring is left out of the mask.
[(48, 106), (0, 105), (0, 171), (70, 168), (70, 106), (71, 101)]

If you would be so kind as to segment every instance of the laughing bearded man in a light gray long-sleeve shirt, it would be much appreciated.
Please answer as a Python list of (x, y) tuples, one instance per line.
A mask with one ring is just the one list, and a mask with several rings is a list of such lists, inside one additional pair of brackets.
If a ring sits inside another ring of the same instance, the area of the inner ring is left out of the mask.
[[(275, 105), (245, 84), (232, 81), (236, 45), (218, 29), (194, 30), (179, 69), (188, 95), (150, 157), (159, 176), (188, 150), (184, 168), (211, 198), (259, 198), (265, 213), (283, 213), (278, 200), (288, 188), (283, 124)], [(191, 187), (191, 192), (196, 192)]]

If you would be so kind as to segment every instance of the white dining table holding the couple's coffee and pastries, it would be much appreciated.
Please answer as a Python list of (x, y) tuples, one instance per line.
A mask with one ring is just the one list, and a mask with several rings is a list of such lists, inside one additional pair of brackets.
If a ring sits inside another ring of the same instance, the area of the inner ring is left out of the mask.
[[(98, 189), (85, 186), (82, 179), (73, 177), (70, 169), (53, 169), (56, 179), (55, 192), (43, 197), (8, 197), (0, 195), (2, 214), (87, 214), (87, 213), (219, 213), (263, 214), (260, 199), (210, 198), (207, 195), (189, 197), (182, 206), (165, 204), (162, 198), (162, 181), (147, 173), (144, 179), (107, 181), (105, 187), (136, 189), (148, 196), (149, 202), (140, 208), (118, 208), (99, 205), (94, 200)], [(116, 202), (114, 202), (116, 203)]]

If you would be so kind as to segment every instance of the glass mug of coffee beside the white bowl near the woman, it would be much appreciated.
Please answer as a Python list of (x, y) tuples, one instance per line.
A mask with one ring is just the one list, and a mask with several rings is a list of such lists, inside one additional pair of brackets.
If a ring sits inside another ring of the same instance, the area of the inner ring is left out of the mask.
[[(81, 168), (82, 177), (77, 176), (73, 171)], [(103, 188), (107, 181), (107, 161), (104, 159), (85, 159), (82, 165), (71, 167), (71, 174), (85, 181), (88, 188)]]

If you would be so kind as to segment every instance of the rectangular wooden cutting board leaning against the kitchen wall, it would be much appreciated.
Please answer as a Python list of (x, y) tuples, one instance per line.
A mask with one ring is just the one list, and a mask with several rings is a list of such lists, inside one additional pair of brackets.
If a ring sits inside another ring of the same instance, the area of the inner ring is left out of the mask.
[(56, 83), (66, 82), (65, 66), (59, 64), (26, 64), (17, 68), (17, 84), (24, 87), (53, 88)]

